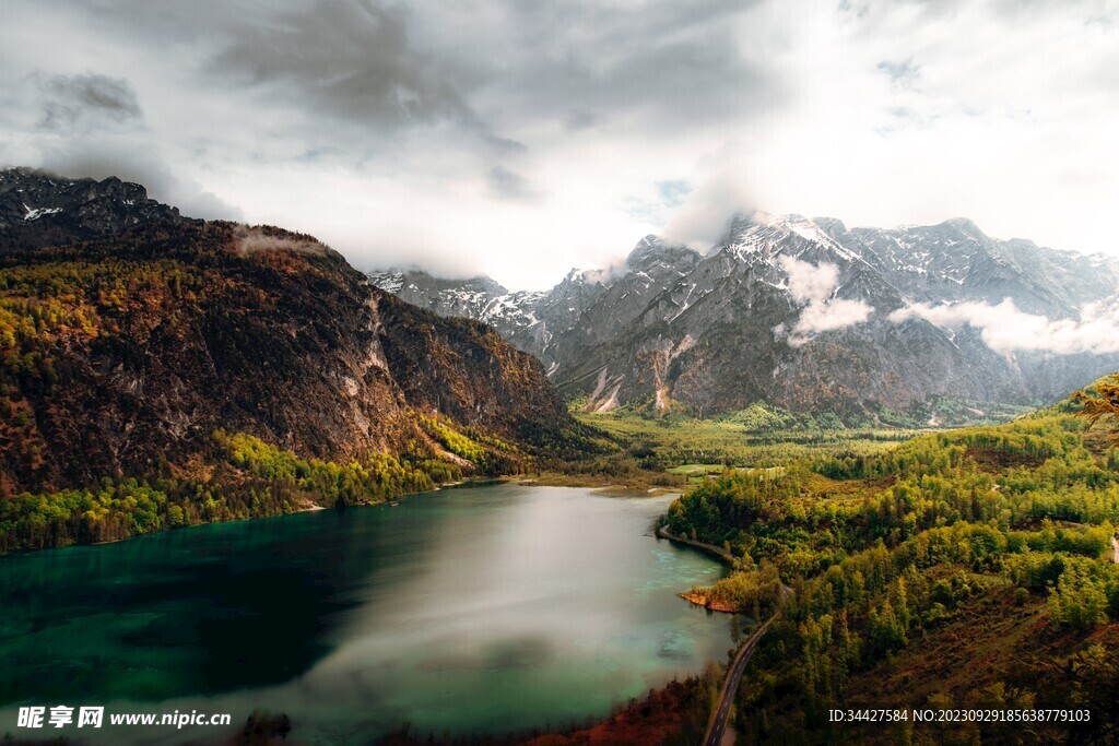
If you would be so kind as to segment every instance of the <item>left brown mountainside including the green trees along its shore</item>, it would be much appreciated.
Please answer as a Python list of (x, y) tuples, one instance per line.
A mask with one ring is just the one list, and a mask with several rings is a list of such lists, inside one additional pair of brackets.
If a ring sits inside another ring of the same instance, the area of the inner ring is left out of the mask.
[(535, 358), (310, 236), (157, 219), (0, 257), (0, 551), (427, 490), (577, 429)]

